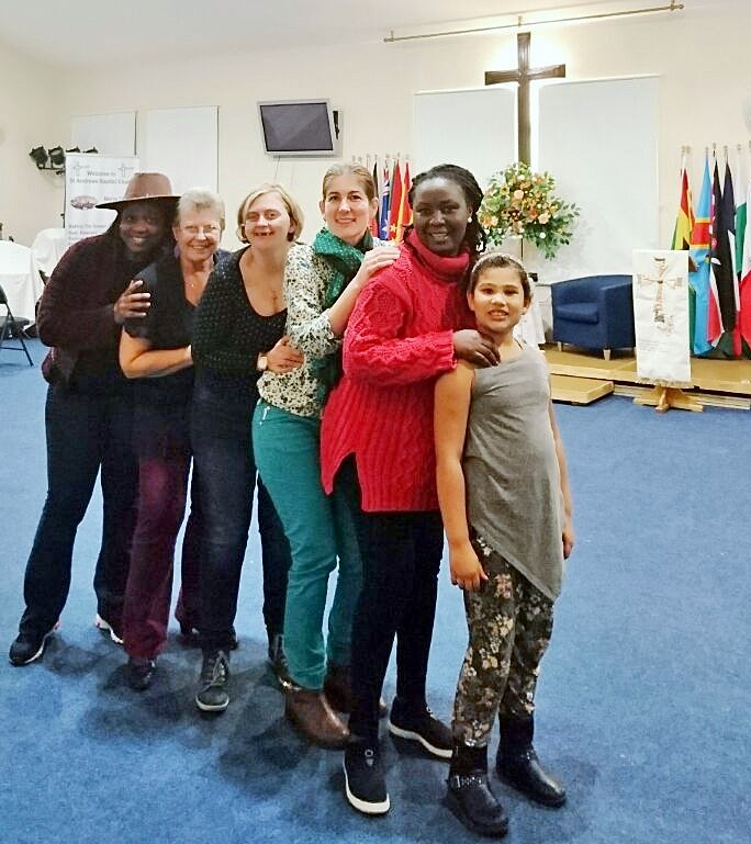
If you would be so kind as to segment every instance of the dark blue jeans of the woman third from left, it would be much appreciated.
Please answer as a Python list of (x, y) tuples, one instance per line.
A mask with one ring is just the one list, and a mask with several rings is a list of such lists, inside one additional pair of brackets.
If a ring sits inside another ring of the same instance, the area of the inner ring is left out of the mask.
[[(222, 407), (217, 407), (217, 400), (223, 402)], [(264, 620), (269, 640), (284, 629), (290, 545), (266, 487), (260, 479), (257, 481), (250, 412), (240, 418), (242, 404), (236, 408), (229, 407), (211, 385), (197, 381), (191, 410), (191, 440), (203, 511), (200, 632), (204, 650), (227, 649), (234, 638), (233, 626), (256, 483), (264, 571)], [(235, 412), (238, 414), (236, 418)]]

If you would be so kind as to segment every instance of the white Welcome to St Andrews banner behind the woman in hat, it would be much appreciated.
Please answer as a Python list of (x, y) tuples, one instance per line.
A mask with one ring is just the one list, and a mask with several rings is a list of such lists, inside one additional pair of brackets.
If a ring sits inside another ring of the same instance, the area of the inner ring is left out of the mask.
[(97, 205), (122, 199), (137, 169), (138, 159), (135, 156), (66, 155), (65, 234), (68, 246), (110, 227), (114, 212), (98, 209)]

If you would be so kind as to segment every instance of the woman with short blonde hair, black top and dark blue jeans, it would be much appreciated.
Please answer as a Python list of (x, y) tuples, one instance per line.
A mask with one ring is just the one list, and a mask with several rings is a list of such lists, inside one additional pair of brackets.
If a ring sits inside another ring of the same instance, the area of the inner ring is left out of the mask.
[(202, 711), (227, 708), (227, 650), (234, 639), (240, 570), (254, 486), (264, 570), (264, 619), (269, 660), (284, 680), (282, 631), (290, 549), (266, 488), (257, 481), (250, 418), (265, 369), (289, 372), (302, 355), (284, 334), (284, 261), (303, 227), (298, 203), (278, 184), (251, 191), (237, 212), (238, 237), (249, 246), (222, 261), (195, 317), (195, 390), (191, 416), (205, 520), (201, 559), (203, 666), (195, 695)]

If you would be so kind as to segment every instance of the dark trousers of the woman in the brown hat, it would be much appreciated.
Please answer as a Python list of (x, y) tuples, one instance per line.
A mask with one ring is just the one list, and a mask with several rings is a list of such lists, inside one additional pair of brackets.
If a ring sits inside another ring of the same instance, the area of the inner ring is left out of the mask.
[(76, 532), (100, 469), (102, 543), (93, 585), (100, 616), (120, 626), (137, 489), (131, 390), (123, 385), (121, 391), (100, 395), (52, 385), (45, 427), (47, 498), (26, 563), (26, 609), (20, 629), (46, 632), (59, 618), (70, 588)]

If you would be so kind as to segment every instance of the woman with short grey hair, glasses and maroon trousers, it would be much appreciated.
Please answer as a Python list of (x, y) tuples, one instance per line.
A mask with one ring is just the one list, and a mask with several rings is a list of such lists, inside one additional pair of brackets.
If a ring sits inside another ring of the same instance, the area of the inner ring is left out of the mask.
[[(191, 462), (193, 392), (191, 333), (195, 306), (214, 268), (224, 229), (224, 203), (206, 190), (184, 193), (173, 226), (177, 249), (138, 275), (150, 306), (125, 323), (123, 372), (135, 382), (134, 443), (138, 457), (138, 517), (125, 589), (123, 627), (128, 680), (147, 688), (167, 639), (172, 562), (186, 509)], [(137, 283), (136, 282), (136, 283)], [(198, 473), (182, 542), (182, 587), (176, 616), (183, 630), (199, 624), (202, 517)]]

